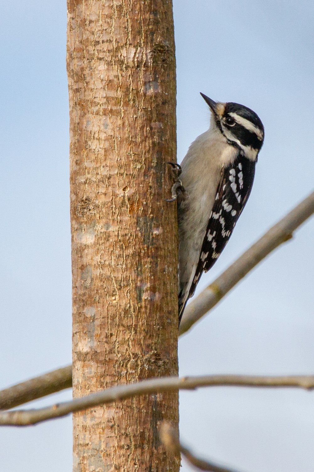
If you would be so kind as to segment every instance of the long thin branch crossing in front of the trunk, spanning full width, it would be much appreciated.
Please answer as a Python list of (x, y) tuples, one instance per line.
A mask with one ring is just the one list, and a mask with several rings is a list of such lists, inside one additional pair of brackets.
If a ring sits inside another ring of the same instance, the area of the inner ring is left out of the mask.
[(278, 377), (252, 375), (206, 375), (182, 378), (160, 377), (157, 379), (142, 380), (134, 384), (118, 385), (87, 396), (82, 396), (81, 398), (75, 398), (72, 401), (40, 408), (38, 410), (0, 411), (0, 425), (27, 426), (137, 395), (150, 395), (174, 390), (194, 390), (199, 387), (213, 386), (298, 387), (311, 390), (314, 388), (314, 375)]

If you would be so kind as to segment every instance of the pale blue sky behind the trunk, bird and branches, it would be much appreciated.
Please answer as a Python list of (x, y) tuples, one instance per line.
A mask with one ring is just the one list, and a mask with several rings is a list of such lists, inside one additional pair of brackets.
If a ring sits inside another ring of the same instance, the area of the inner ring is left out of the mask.
[[(313, 190), (311, 2), (174, 0), (180, 162), (209, 126), (199, 92), (265, 126), (253, 190), (197, 293)], [(66, 2), (1, 6), (0, 388), (71, 362)], [(314, 373), (314, 219), (179, 340), (180, 375)], [(32, 402), (71, 398), (71, 390)], [(28, 406), (28, 405), (27, 405)], [(181, 439), (243, 472), (312, 472), (314, 392), (180, 393)], [(1, 472), (72, 468), (71, 417), (0, 429)], [(182, 472), (192, 469), (183, 461)]]

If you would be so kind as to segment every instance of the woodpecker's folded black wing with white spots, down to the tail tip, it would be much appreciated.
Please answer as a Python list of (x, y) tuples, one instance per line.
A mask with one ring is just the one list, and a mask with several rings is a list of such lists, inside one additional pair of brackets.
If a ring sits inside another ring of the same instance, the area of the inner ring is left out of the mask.
[(194, 294), (203, 272), (217, 261), (227, 244), (242, 210), (250, 196), (256, 162), (239, 155), (221, 170), (214, 206), (201, 246), (201, 253), (188, 294), (179, 295), (179, 319), (187, 300)]

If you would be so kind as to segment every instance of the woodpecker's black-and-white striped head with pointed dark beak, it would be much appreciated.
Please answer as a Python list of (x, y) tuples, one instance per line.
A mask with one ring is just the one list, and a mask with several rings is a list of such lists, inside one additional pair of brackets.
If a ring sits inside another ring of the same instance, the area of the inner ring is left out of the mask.
[(214, 122), (229, 144), (250, 160), (257, 160), (264, 141), (264, 126), (258, 115), (239, 103), (221, 103), (201, 93), (209, 105)]

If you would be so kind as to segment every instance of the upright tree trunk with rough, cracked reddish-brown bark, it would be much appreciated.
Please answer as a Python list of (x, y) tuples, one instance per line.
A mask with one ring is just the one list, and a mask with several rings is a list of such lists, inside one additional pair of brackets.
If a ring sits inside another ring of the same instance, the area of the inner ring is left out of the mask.
[[(176, 79), (171, 1), (67, 6), (77, 397), (177, 374)], [(178, 471), (161, 420), (177, 428), (176, 393), (75, 413), (73, 470)]]

